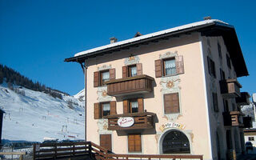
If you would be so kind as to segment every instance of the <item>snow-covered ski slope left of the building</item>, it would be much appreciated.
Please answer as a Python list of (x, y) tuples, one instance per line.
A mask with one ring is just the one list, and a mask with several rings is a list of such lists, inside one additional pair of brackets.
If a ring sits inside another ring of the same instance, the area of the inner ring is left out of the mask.
[(2, 138), (42, 142), (43, 138), (83, 139), (84, 102), (63, 94), (63, 100), (14, 86), (22, 94), (0, 85), (4, 114)]

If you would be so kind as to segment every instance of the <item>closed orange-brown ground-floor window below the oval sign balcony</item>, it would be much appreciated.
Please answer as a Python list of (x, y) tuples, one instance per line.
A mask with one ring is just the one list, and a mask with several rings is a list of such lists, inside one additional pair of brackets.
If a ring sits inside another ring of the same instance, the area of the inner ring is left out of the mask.
[(128, 151), (142, 152), (141, 134), (128, 134)]

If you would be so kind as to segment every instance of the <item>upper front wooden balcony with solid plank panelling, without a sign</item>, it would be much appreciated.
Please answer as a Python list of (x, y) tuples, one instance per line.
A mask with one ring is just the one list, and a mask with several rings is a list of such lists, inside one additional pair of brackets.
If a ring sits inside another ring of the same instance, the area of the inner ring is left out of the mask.
[(107, 94), (122, 96), (127, 94), (150, 93), (153, 90), (154, 78), (147, 75), (138, 75), (130, 78), (119, 78), (106, 82)]

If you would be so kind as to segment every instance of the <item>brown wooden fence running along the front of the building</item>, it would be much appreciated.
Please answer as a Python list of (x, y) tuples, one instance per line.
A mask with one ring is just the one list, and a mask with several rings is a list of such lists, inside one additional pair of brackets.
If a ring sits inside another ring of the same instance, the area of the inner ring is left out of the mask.
[(91, 158), (97, 160), (153, 160), (153, 159), (200, 159), (202, 155), (168, 155), (168, 154), (113, 154), (94, 142), (63, 142), (34, 144), (34, 160)]

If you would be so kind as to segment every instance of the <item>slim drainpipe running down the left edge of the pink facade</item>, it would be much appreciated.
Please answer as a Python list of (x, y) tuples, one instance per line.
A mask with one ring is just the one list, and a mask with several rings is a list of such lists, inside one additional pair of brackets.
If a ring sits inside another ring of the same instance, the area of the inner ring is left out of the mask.
[(86, 135), (87, 135), (87, 106), (86, 106), (86, 102), (87, 102), (87, 66), (86, 66), (86, 62), (84, 62), (84, 65), (82, 65), (82, 62), (79, 62), (81, 67), (82, 67), (82, 72), (85, 75), (85, 141), (87, 141), (86, 139)]

